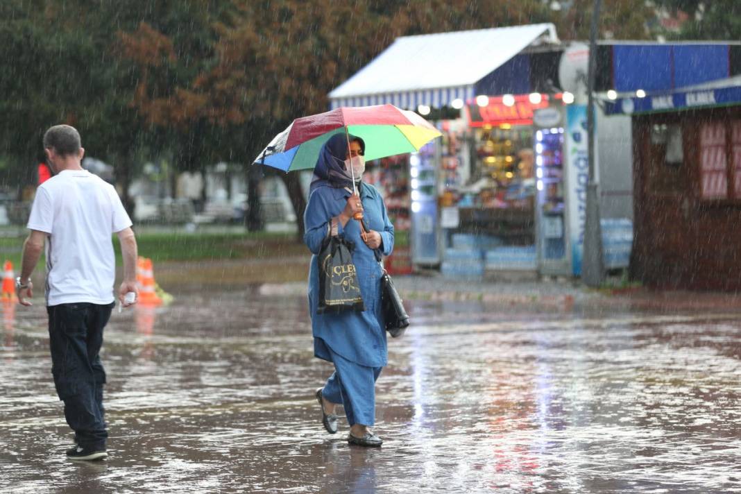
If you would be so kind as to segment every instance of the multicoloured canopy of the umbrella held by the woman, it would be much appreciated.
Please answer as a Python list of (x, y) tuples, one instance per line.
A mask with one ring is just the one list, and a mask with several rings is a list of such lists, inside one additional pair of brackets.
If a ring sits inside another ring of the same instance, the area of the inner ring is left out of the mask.
[(413, 153), (441, 133), (430, 122), (393, 104), (339, 107), (296, 119), (255, 158), (285, 172), (311, 170), (322, 145), (336, 133), (348, 132), (365, 141), (365, 159)]

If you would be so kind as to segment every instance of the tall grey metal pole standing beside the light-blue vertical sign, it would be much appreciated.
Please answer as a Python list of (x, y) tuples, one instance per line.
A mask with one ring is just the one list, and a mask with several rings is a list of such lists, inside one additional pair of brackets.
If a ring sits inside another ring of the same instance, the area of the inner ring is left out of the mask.
[(587, 133), (589, 144), (589, 183), (587, 184), (587, 212), (584, 225), (584, 258), (582, 280), (588, 287), (599, 287), (605, 280), (605, 261), (602, 258), (602, 227), (599, 224), (599, 183), (594, 173), (594, 75), (597, 65), (597, 30), (601, 0), (594, 0), (592, 23), (589, 30), (589, 73), (587, 81)]

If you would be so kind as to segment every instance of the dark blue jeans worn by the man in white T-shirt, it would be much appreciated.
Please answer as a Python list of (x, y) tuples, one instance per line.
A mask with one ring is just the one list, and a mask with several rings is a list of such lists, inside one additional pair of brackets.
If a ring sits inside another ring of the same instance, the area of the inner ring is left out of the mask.
[(103, 408), (105, 370), (100, 361), (103, 328), (113, 303), (47, 307), (54, 386), (64, 418), (83, 448), (104, 450), (108, 438)]

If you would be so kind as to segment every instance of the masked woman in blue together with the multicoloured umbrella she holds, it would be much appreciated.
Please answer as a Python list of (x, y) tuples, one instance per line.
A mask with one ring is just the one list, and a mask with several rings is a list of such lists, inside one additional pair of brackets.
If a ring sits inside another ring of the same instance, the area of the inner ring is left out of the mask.
[[(364, 158), (413, 153), (441, 135), (421, 116), (393, 104), (337, 107), (295, 119), (255, 160), (284, 172), (314, 167), (304, 215), (304, 240), (314, 254), (309, 271), (309, 309), (314, 355), (332, 362), (335, 369), (325, 386), (316, 390), (316, 398), (322, 407), (322, 423), (331, 434), (337, 432), (335, 405), (342, 403), (350, 423), (350, 444), (382, 443), (369, 427), (375, 415), (375, 381), (387, 362), (379, 261), (393, 250), (393, 225), (386, 207), (373, 187), (359, 181), (365, 170)], [(365, 216), (363, 224), (350, 219), (361, 216)], [(362, 312), (317, 310), (316, 258), (322, 242), (333, 234), (354, 244), (351, 257), (365, 305)]]

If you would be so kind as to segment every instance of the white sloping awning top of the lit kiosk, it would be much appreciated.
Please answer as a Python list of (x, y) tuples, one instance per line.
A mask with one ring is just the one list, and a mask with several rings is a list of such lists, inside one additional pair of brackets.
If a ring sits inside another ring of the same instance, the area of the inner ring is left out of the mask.
[(472, 90), (473, 84), (541, 37), (558, 42), (554, 24), (404, 36), (329, 96), (348, 99), (425, 90)]

